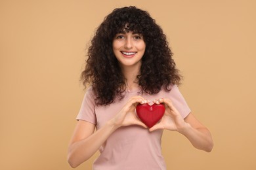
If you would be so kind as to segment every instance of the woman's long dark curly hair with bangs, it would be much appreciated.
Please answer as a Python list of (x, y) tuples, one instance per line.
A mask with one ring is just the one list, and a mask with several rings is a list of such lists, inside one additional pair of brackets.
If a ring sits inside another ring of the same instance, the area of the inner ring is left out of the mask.
[(112, 50), (112, 42), (126, 24), (129, 30), (125, 31), (140, 33), (146, 44), (140, 75), (137, 75), (141, 92), (154, 94), (162, 87), (170, 91), (171, 85), (181, 82), (166, 35), (150, 14), (136, 7), (114, 9), (96, 29), (85, 70), (81, 73), (83, 85), (92, 86), (98, 105), (109, 105), (123, 98), (126, 79)]

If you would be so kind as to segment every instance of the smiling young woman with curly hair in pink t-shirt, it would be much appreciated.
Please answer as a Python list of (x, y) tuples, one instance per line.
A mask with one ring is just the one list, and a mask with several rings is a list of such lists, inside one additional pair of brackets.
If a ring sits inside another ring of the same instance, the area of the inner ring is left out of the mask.
[[(91, 41), (81, 78), (87, 88), (68, 149), (72, 167), (100, 151), (95, 170), (166, 169), (163, 129), (184, 135), (210, 152), (209, 130), (191, 113), (179, 92), (181, 82), (166, 36), (150, 14), (136, 7), (115, 9)], [(163, 103), (165, 114), (148, 129), (138, 104)]]

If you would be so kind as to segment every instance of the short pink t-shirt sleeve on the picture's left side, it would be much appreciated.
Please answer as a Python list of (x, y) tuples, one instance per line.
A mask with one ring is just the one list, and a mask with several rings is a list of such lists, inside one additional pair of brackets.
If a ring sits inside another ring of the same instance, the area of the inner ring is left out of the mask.
[(96, 124), (95, 95), (92, 88), (88, 88), (87, 92), (85, 93), (76, 120), (85, 120), (92, 124)]

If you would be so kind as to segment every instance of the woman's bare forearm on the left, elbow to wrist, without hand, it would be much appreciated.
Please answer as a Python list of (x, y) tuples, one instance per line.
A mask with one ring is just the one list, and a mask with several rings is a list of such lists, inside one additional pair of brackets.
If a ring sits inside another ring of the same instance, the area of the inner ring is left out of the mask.
[(77, 167), (91, 158), (117, 128), (114, 124), (108, 122), (93, 135), (71, 144), (68, 150), (68, 163), (72, 167)]

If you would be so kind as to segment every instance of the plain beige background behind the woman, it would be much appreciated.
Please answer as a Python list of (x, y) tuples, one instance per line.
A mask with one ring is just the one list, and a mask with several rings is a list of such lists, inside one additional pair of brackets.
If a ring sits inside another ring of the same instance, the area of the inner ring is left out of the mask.
[[(85, 48), (116, 7), (148, 10), (184, 75), (211, 153), (165, 131), (167, 169), (256, 169), (256, 1), (0, 1), (0, 169), (72, 169)], [(77, 169), (91, 169), (95, 156)]]

